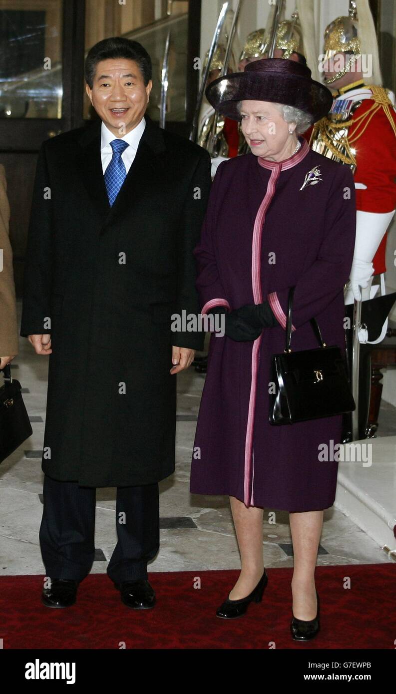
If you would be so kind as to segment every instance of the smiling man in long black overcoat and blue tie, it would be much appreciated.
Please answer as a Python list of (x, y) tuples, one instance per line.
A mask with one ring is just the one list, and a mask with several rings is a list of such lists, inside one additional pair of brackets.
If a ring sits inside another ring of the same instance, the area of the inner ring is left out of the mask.
[(137, 42), (93, 46), (85, 78), (100, 119), (44, 142), (37, 162), (21, 335), (50, 355), (48, 607), (73, 604), (92, 567), (98, 486), (117, 486), (107, 574), (129, 607), (155, 604), (147, 562), (158, 482), (174, 471), (175, 374), (203, 348), (203, 333), (173, 332), (171, 316), (200, 312), (193, 248), (211, 177), (205, 150), (145, 116), (151, 71)]

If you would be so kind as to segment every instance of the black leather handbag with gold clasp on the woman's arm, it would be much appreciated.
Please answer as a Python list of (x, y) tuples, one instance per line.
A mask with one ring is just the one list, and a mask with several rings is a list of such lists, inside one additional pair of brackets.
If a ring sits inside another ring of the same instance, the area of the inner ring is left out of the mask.
[(337, 346), (323, 342), (316, 319), (309, 321), (318, 338), (317, 349), (291, 350), (291, 310), (294, 287), (289, 291), (286, 348), (271, 358), (270, 424), (331, 417), (352, 412), (356, 405), (347, 379), (345, 359)]

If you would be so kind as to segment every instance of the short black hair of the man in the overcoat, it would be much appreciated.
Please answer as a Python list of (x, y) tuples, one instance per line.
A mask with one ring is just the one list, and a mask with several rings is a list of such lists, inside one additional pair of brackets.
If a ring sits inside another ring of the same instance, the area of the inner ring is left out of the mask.
[(153, 75), (153, 65), (146, 49), (137, 41), (114, 36), (110, 39), (99, 41), (88, 51), (87, 58), (85, 58), (85, 80), (90, 89), (94, 85), (96, 65), (101, 60), (109, 60), (109, 58), (135, 60), (147, 87)]

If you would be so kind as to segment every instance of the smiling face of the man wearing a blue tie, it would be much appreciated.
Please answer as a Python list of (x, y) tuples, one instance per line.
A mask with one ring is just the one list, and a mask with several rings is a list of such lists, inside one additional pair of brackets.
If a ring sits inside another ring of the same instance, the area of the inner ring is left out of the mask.
[(122, 137), (143, 118), (152, 87), (151, 80), (147, 86), (144, 84), (135, 60), (110, 58), (98, 62), (92, 89), (89, 85), (85, 89), (105, 126)]

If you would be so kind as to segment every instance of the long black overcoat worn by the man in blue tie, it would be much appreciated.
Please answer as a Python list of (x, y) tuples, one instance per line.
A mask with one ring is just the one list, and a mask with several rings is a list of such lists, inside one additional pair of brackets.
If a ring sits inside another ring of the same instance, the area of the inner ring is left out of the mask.
[(171, 347), (202, 349), (203, 333), (171, 332), (171, 314), (199, 313), (193, 248), (210, 185), (208, 153), (147, 116), (112, 208), (101, 121), (42, 144), (21, 335), (52, 336), (42, 469), (53, 479), (129, 486), (173, 472)]

